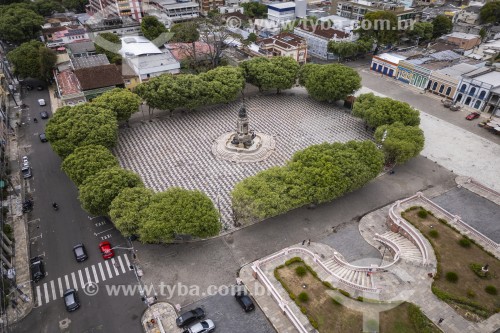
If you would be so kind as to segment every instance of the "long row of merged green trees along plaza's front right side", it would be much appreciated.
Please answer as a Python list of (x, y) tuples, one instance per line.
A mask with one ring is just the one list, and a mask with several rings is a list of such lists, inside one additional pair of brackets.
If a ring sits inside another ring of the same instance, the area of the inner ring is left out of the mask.
[(294, 154), (283, 167), (259, 172), (231, 192), (235, 218), (255, 222), (331, 201), (375, 178), (384, 156), (370, 141), (323, 143)]

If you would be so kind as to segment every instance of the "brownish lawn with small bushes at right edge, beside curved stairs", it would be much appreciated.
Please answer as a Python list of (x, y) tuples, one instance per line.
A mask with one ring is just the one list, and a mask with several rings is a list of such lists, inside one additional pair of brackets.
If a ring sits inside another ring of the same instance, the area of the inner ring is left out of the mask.
[[(480, 320), (500, 311), (500, 296), (486, 292), (487, 286), (500, 289), (500, 261), (472, 242), (468, 247), (460, 245), (463, 239), (460, 233), (431, 214), (419, 216), (421, 209), (412, 207), (402, 216), (418, 228), (434, 248), (438, 259), (438, 273), (432, 285), (434, 293), (468, 320)], [(477, 264), (479, 271), (488, 264), (487, 276), (478, 276), (471, 264)], [(456, 273), (455, 282), (449, 272)]]

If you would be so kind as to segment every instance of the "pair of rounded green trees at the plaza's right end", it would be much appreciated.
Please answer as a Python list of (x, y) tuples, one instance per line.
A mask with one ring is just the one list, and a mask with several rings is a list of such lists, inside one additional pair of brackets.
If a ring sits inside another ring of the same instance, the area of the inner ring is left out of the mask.
[(353, 114), (376, 129), (375, 141), (382, 146), (388, 164), (403, 164), (424, 148), (419, 112), (408, 103), (363, 94), (354, 103)]

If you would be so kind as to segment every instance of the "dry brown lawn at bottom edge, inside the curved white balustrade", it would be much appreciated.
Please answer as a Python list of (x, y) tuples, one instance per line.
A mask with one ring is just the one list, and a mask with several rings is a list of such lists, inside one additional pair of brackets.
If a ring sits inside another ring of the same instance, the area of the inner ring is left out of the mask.
[[(327, 291), (331, 290), (307, 270), (304, 276), (299, 276), (295, 269), (305, 267), (301, 262), (277, 268), (275, 275), (281, 284), (293, 294), (296, 303), (309, 320), (317, 323), (320, 333), (356, 332), (363, 328), (363, 314), (351, 310), (334, 301)], [(305, 287), (304, 287), (305, 286)], [(301, 302), (300, 294), (307, 293), (309, 300)], [(389, 311), (380, 313), (380, 332), (389, 333), (434, 333), (439, 330), (425, 317), (417, 306), (403, 303)]]

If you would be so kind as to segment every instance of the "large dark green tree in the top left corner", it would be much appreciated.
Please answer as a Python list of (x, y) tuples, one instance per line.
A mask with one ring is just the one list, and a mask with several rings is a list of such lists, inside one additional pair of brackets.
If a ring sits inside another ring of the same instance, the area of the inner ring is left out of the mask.
[(35, 39), (44, 19), (33, 10), (18, 5), (0, 9), (0, 36), (3, 41), (22, 43)]

